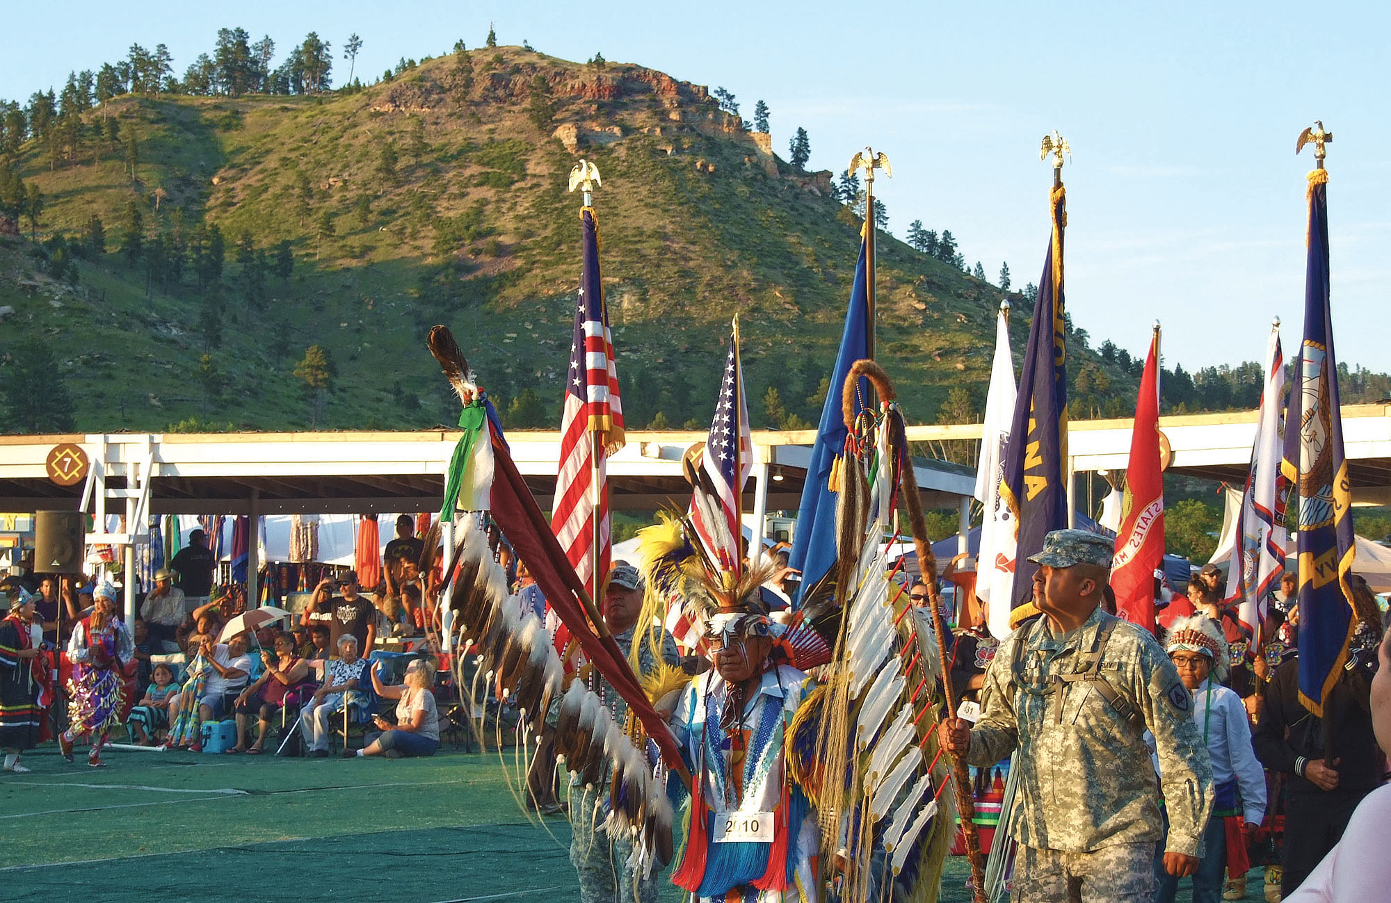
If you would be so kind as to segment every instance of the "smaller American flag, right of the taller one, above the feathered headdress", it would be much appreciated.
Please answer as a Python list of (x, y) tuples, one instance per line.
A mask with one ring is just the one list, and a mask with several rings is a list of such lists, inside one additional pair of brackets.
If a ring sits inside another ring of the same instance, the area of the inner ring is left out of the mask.
[[(725, 378), (719, 383), (715, 420), (701, 454), (700, 482), (691, 496), (690, 520), (705, 557), (730, 582), (743, 571), (739, 496), (753, 470), (754, 440), (748, 433), (748, 404), (739, 361), (739, 333), (729, 342)], [(736, 478), (736, 467), (737, 478)], [(682, 613), (679, 600), (666, 613), (666, 629), (686, 649), (702, 645), (704, 625)]]

